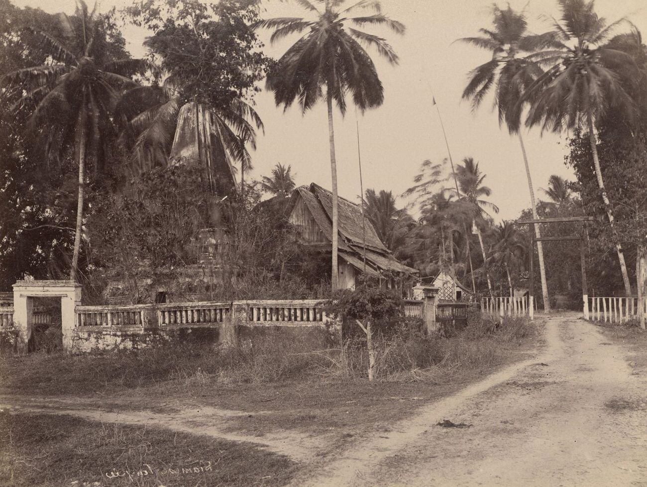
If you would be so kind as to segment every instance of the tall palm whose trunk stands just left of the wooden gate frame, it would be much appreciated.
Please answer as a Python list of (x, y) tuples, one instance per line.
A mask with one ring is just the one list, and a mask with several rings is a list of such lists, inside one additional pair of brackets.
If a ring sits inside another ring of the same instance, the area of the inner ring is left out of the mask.
[[(492, 59), (470, 72), (470, 81), (463, 91), (464, 99), (472, 99), (472, 109), (480, 107), (481, 102), (490, 90), (495, 90), (494, 107), (498, 109), (499, 125), (504, 121), (510, 133), (516, 133), (521, 145), (521, 155), (525, 167), (528, 190), (532, 209), (532, 218), (537, 216), (537, 203), (534, 198), (532, 178), (528, 157), (519, 130), (520, 114), (518, 101), (523, 90), (529, 86), (540, 70), (520, 57), (522, 53), (529, 54), (543, 47), (545, 36), (534, 36), (527, 31), (527, 20), (523, 12), (518, 13), (510, 6), (501, 10), (498, 6), (492, 8), (494, 29), (481, 29), (481, 37), (464, 37), (459, 39), (465, 43), (492, 52)], [(537, 238), (542, 236), (538, 224), (532, 225)], [(550, 311), (546, 269), (543, 262), (542, 242), (537, 242), (539, 254), (539, 271), (542, 280), (542, 296), (545, 311)]]

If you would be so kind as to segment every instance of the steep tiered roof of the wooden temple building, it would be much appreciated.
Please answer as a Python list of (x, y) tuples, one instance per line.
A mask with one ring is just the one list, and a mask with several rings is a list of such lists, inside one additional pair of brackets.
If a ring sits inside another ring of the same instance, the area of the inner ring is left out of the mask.
[[(296, 200), (302, 198), (323, 236), (333, 240), (333, 195), (327, 189), (312, 183), (301, 186), (292, 193), (292, 208)], [(345, 198), (339, 198), (339, 255), (346, 262), (360, 271), (364, 270), (364, 238), (366, 231), (366, 272), (378, 275), (380, 271), (395, 271), (404, 274), (416, 274), (418, 271), (400, 264), (391, 255), (389, 249), (380, 241), (373, 225), (364, 218), (365, 230), (362, 230), (362, 210)]]

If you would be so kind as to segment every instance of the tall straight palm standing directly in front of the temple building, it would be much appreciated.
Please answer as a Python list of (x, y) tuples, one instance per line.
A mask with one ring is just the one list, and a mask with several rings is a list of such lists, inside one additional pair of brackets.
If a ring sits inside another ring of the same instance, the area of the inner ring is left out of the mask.
[[(398, 34), (404, 33), (404, 25), (380, 13), (380, 5), (373, 0), (360, 0), (344, 8), (345, 0), (318, 0), (320, 7), (309, 0), (298, 0), (298, 4), (316, 16), (314, 21), (301, 17), (287, 17), (260, 21), (258, 27), (276, 28), (271, 41), (275, 42), (290, 34), (306, 32), (279, 59), (276, 69), (267, 77), (267, 87), (274, 92), (276, 105), (285, 109), (295, 100), (303, 113), (314, 107), (323, 98), (323, 86), (328, 107), (328, 134), (333, 190), (333, 290), (338, 287), (338, 196), (337, 163), (334, 150), (333, 100), (342, 116), (346, 110), (346, 94), (350, 92), (353, 103), (360, 110), (378, 107), (384, 101), (384, 88), (377, 75), (375, 65), (366, 52), (365, 46), (375, 47), (380, 56), (391, 64), (397, 64), (398, 57), (393, 48), (382, 37), (373, 36), (352, 28), (364, 25), (385, 25)], [(357, 8), (370, 8), (375, 14), (348, 17)]]

